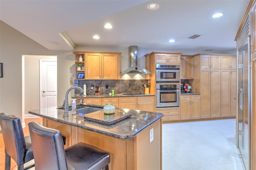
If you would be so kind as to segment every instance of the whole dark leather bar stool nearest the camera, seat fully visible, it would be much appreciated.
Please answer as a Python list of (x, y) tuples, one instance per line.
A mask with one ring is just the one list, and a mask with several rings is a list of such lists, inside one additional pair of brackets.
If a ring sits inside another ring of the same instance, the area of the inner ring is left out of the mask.
[(61, 132), (37, 122), (28, 123), (36, 170), (108, 170), (110, 154), (79, 142), (64, 149)]

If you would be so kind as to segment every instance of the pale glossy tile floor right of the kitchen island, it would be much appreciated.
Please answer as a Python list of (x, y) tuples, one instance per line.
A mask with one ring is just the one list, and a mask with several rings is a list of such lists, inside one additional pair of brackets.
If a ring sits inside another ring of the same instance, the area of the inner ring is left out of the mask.
[(236, 119), (163, 124), (163, 170), (244, 170)]

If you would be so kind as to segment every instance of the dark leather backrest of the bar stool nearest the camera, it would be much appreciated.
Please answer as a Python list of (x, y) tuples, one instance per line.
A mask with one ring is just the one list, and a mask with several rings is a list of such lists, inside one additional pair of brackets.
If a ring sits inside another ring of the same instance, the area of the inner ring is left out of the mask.
[(28, 123), (36, 170), (67, 170), (66, 154), (59, 130), (37, 122)]

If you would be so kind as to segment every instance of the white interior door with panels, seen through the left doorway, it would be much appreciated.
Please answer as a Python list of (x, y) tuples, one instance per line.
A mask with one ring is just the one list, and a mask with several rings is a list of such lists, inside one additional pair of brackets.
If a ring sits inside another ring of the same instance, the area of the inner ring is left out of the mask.
[(40, 111), (57, 107), (57, 61), (40, 60)]

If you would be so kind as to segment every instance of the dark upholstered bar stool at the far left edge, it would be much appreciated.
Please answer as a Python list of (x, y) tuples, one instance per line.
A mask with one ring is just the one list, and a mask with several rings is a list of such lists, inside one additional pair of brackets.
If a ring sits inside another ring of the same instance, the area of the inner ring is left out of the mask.
[(22, 131), (20, 118), (0, 113), (0, 125), (4, 139), (5, 170), (10, 170), (11, 158), (17, 163), (18, 170), (27, 170), (34, 164), (24, 168), (24, 163), (34, 159), (30, 136)]

